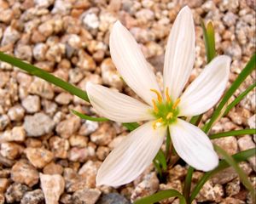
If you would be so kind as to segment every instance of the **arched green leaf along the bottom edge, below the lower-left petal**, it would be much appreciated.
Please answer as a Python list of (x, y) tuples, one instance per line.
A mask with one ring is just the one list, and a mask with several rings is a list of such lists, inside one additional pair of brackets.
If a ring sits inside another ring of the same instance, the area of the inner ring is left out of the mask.
[(169, 197), (178, 197), (180, 204), (186, 204), (183, 195), (181, 195), (177, 190), (161, 190), (153, 195), (149, 195), (147, 197), (139, 199), (135, 201), (133, 204), (152, 204), (167, 199)]

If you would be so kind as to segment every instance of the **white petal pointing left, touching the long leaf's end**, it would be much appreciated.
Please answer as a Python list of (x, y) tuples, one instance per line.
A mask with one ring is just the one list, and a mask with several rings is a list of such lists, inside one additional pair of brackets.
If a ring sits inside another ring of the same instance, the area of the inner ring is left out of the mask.
[(154, 119), (152, 108), (137, 99), (110, 88), (88, 82), (86, 91), (96, 111), (115, 122), (137, 122)]

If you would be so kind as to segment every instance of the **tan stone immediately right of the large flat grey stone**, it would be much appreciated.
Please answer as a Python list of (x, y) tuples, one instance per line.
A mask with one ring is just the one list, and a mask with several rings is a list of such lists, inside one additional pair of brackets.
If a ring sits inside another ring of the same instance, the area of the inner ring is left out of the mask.
[(57, 127), (56, 132), (62, 138), (69, 138), (73, 133), (77, 132), (80, 127), (80, 118), (78, 116), (71, 116), (67, 120), (61, 121)]

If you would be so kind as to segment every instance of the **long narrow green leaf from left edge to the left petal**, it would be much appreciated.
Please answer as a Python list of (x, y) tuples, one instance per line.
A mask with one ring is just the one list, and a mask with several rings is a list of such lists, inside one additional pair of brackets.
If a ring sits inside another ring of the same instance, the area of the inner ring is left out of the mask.
[(15, 57), (10, 56), (8, 54), (3, 54), (2, 52), (0, 52), (0, 60), (4, 61), (4, 62), (7, 62), (10, 65), (14, 65), (14, 66), (20, 68), (23, 71), (27, 71), (31, 75), (42, 78), (47, 82), (53, 83), (53, 84), (55, 84), (55, 86), (63, 88), (64, 90), (66, 90), (70, 94), (76, 95), (80, 99), (84, 99), (85, 101), (90, 102), (89, 98), (88, 98), (88, 95), (82, 89), (76, 88), (72, 84), (63, 81), (59, 77), (55, 77), (54, 75), (50, 74), (47, 71), (39, 69), (38, 67), (36, 67), (34, 65), (30, 65), (30, 64), (28, 64), (28, 63), (26, 63), (26, 62), (24, 62), (20, 59), (17, 59)]

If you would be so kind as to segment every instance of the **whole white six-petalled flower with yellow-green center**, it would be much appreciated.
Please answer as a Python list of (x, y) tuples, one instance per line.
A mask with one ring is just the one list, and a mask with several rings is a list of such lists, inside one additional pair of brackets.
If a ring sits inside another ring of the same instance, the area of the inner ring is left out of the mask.
[(189, 7), (177, 15), (168, 38), (162, 94), (137, 42), (119, 21), (113, 25), (109, 46), (120, 75), (146, 104), (88, 83), (91, 105), (115, 122), (149, 122), (132, 131), (109, 154), (97, 173), (96, 184), (119, 186), (137, 178), (160, 150), (167, 128), (177, 154), (190, 166), (202, 171), (216, 167), (218, 156), (210, 139), (180, 116), (199, 115), (218, 102), (228, 82), (230, 58), (222, 55), (213, 59), (183, 92), (195, 61), (195, 28)]

